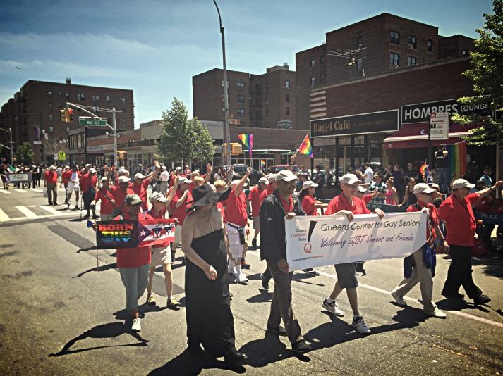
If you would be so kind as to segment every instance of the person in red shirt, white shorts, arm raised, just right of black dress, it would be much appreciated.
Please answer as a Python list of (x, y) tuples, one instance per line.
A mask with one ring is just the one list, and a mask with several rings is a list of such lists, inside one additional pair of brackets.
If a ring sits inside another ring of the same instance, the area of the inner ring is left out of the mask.
[(225, 218), (227, 237), (229, 238), (229, 273), (236, 275), (236, 282), (246, 283), (248, 278), (241, 272), (241, 258), (243, 257), (243, 246), (245, 245), (246, 225), (248, 224), (248, 213), (246, 213), (246, 194), (243, 192), (244, 184), (253, 169), (248, 167), (241, 180), (234, 180), (231, 183), (231, 193), (225, 201)]

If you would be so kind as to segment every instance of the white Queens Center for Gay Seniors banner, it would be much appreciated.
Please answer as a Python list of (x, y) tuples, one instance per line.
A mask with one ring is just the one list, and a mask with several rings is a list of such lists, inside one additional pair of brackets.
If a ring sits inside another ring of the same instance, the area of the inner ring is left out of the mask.
[(428, 214), (298, 216), (285, 220), (290, 270), (411, 255), (426, 242)]

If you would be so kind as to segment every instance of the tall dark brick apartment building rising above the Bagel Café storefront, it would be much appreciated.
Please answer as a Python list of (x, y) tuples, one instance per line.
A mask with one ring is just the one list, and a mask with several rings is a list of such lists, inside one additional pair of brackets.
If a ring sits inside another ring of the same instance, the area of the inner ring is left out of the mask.
[[(327, 32), (325, 38), (324, 44), (296, 54), (294, 127), (299, 129), (308, 129), (311, 119), (325, 117), (321, 108), (311, 106), (310, 94), (320, 87), (473, 51), (471, 38), (442, 37), (436, 26), (389, 13)], [(355, 113), (368, 112), (366, 104), (361, 106)]]

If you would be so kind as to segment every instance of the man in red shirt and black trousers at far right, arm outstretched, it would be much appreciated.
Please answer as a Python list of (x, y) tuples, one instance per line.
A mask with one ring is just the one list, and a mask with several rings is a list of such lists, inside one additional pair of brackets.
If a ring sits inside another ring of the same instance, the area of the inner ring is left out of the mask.
[(502, 184), (503, 181), (499, 181), (492, 187), (471, 194), (470, 189), (475, 187), (475, 184), (470, 184), (464, 179), (456, 179), (452, 182), (451, 196), (440, 205), (438, 219), (444, 221), (447, 227), (447, 243), (449, 243), (452, 258), (447, 280), (442, 289), (442, 295), (447, 298), (463, 298), (463, 295), (459, 294), (459, 287), (463, 286), (475, 305), (491, 301), (490, 297), (482, 294), (482, 290), (473, 282), (471, 248), (477, 225), (472, 206), (481, 197), (497, 190)]

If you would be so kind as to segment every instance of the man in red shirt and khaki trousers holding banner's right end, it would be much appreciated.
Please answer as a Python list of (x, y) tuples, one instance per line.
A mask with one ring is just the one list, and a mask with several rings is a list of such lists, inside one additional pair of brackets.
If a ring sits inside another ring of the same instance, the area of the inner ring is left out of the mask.
[[(399, 306), (407, 306), (407, 303), (404, 301), (404, 296), (419, 282), (423, 311), (425, 314), (435, 318), (446, 318), (447, 316), (445, 313), (440, 311), (437, 305), (432, 301), (432, 277), (435, 270), (435, 251), (433, 251), (432, 247), (435, 243), (435, 239), (439, 239), (443, 248), (449, 249), (445, 237), (442, 234), (442, 230), (440, 230), (437, 208), (432, 204), (434, 192), (435, 189), (432, 189), (426, 183), (419, 183), (414, 186), (413, 194), (416, 195), (418, 202), (409, 206), (407, 211), (409, 213), (416, 211), (428, 213), (429, 219), (428, 226), (426, 227), (426, 237), (428, 241), (423, 244), (420, 249), (405, 259), (405, 278), (393, 289), (391, 294)], [(412, 268), (408, 268), (408, 265), (411, 263), (413, 263)]]

